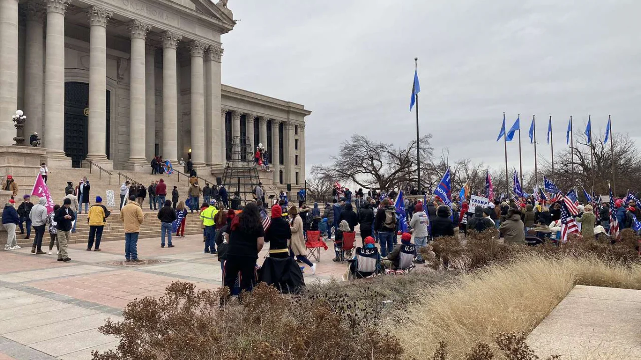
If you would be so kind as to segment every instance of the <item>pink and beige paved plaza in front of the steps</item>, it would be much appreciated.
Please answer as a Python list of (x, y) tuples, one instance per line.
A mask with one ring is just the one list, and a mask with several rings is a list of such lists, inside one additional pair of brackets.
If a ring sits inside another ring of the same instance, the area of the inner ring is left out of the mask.
[[(174, 281), (203, 290), (221, 286), (220, 263), (203, 254), (202, 236), (173, 243), (176, 247), (162, 249), (159, 238), (139, 240), (138, 254), (149, 265), (125, 265), (124, 240), (102, 243), (101, 252), (86, 251), (85, 243), (70, 245), (70, 263), (56, 261), (55, 250), (38, 256), (27, 248), (0, 251), (0, 360), (90, 359), (93, 350), (117, 345), (97, 329), (106, 318), (122, 320), (131, 300), (159, 297)], [(340, 279), (345, 271), (346, 263), (331, 261), (331, 243), (328, 247), (321, 251), (317, 273), (306, 269), (307, 284)], [(267, 249), (269, 244), (259, 264)]]

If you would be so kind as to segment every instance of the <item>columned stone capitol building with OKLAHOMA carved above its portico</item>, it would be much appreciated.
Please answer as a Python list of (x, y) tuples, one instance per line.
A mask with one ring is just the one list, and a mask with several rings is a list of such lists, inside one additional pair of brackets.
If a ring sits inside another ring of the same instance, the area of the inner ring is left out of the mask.
[(16, 110), (54, 169), (150, 172), (160, 155), (182, 171), (190, 153), (220, 174), (246, 136), (270, 154), (274, 184), (303, 184), (311, 111), (221, 84), (235, 24), (225, 0), (0, 0), (0, 148)]

